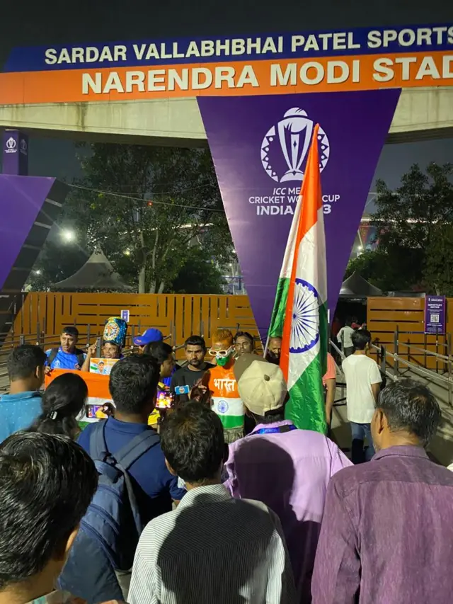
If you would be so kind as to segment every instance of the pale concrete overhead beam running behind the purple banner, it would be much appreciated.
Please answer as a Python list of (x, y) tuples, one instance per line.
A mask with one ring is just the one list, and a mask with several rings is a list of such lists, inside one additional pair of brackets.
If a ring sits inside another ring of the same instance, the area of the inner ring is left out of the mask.
[[(89, 142), (206, 144), (195, 98), (0, 106), (0, 127)], [(453, 136), (453, 87), (404, 89), (388, 142)]]

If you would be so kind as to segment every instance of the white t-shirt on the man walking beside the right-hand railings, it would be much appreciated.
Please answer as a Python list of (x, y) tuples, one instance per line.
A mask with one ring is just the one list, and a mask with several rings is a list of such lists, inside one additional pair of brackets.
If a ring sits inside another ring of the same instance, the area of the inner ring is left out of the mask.
[(376, 361), (366, 355), (350, 355), (341, 365), (346, 379), (346, 403), (348, 420), (355, 423), (370, 423), (376, 403), (372, 384), (382, 382)]

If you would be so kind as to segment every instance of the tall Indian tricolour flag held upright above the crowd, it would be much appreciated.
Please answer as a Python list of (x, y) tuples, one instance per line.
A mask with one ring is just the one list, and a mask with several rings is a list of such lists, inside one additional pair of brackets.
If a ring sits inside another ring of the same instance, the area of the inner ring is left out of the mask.
[(322, 377), (327, 360), (327, 280), (316, 125), (283, 259), (269, 336), (282, 337), (280, 367), (297, 428), (326, 432)]

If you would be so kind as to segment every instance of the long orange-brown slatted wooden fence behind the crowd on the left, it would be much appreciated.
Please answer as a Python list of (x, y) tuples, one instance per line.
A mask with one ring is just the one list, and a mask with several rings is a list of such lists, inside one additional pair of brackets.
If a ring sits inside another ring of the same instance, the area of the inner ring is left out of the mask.
[[(258, 336), (247, 296), (182, 294), (84, 294), (30, 292), (14, 320), (14, 338), (35, 334), (59, 334), (64, 326), (76, 325), (81, 343), (91, 343), (102, 334), (108, 317), (130, 312), (129, 336), (148, 327), (171, 334), (171, 344), (181, 346), (192, 334), (202, 334), (209, 342), (219, 328), (241, 329)], [(38, 328), (39, 325), (39, 328)]]

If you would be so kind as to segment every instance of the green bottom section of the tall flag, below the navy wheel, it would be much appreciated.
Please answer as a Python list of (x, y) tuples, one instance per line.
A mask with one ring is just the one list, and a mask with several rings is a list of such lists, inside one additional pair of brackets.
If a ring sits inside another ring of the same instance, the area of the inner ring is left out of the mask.
[(303, 430), (326, 433), (326, 407), (321, 375), (321, 357), (316, 355), (289, 390), (285, 417)]

